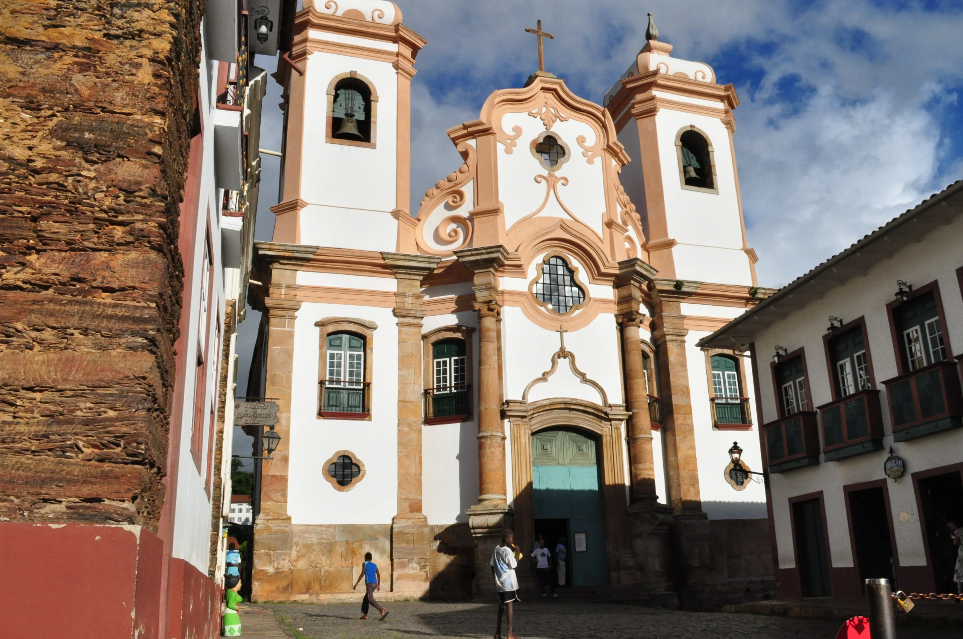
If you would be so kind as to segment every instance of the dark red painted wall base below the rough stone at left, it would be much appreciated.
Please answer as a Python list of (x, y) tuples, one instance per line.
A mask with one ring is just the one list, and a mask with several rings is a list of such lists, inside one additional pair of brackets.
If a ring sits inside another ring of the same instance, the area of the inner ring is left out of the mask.
[[(0, 636), (160, 639), (164, 566), (163, 542), (143, 528), (0, 523)], [(214, 639), (221, 589), (183, 559), (170, 566), (169, 637)]]

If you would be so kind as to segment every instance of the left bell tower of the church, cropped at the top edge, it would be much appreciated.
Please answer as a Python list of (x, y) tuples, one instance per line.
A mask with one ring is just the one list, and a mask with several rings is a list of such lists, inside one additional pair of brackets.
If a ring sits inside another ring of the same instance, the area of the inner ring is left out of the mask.
[(304, 1), (280, 63), (289, 82), (273, 242), (398, 249), (410, 219), (411, 78), (425, 44), (393, 2)]

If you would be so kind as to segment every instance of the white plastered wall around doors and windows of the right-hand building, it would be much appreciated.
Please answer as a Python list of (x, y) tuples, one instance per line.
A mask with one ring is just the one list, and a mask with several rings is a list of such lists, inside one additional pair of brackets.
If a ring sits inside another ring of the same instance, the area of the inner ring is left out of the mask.
[[(805, 349), (806, 364), (813, 405), (831, 400), (830, 379), (822, 344), (824, 328), (829, 316), (842, 316), (845, 322), (860, 316), (866, 318), (869, 347), (872, 353), (873, 376), (881, 399), (884, 450), (851, 457), (840, 461), (773, 474), (771, 476), (772, 505), (776, 525), (779, 567), (792, 568), (793, 531), (790, 526), (788, 499), (816, 491), (823, 492), (832, 565), (853, 565), (846, 520), (843, 486), (885, 478), (883, 461), (894, 450), (906, 463), (906, 473), (916, 473), (958, 463), (963, 450), (963, 433), (959, 430), (930, 435), (911, 442), (893, 444), (889, 404), (885, 387), (880, 383), (898, 374), (896, 356), (886, 304), (893, 301), (898, 279), (920, 287), (934, 279), (938, 281), (949, 335), (944, 336), (948, 351), (963, 352), (963, 298), (955, 269), (963, 265), (963, 217), (928, 234), (921, 243), (910, 244), (892, 258), (870, 268), (864, 276), (854, 277), (820, 300), (807, 304), (756, 336), (756, 352), (760, 361), (760, 389), (765, 421), (777, 419), (776, 396), (768, 362), (775, 345), (789, 350)], [(821, 432), (820, 432), (821, 439)], [(923, 522), (919, 521), (919, 506), (908, 476), (898, 482), (887, 480), (899, 563), (904, 566), (925, 564)], [(910, 521), (899, 521), (899, 513), (911, 515)]]

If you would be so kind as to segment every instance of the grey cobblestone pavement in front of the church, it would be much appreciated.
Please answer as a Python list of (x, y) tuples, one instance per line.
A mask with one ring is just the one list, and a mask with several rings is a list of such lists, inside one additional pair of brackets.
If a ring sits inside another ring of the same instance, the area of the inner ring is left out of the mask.
[[(361, 621), (356, 603), (277, 604), (299, 635), (312, 639), (472, 637), (495, 632), (498, 607), (484, 603), (384, 602), (383, 622)], [(833, 639), (842, 622), (721, 612), (686, 612), (617, 603), (523, 601), (515, 609), (515, 633), (524, 639)], [(503, 636), (505, 626), (502, 627)], [(958, 629), (900, 626), (898, 639), (959, 639)]]

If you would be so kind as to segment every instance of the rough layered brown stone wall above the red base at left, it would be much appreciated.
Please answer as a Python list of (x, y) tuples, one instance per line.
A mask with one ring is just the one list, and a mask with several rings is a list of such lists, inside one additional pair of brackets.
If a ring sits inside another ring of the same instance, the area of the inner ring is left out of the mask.
[(0, 517), (156, 529), (202, 11), (0, 5)]

